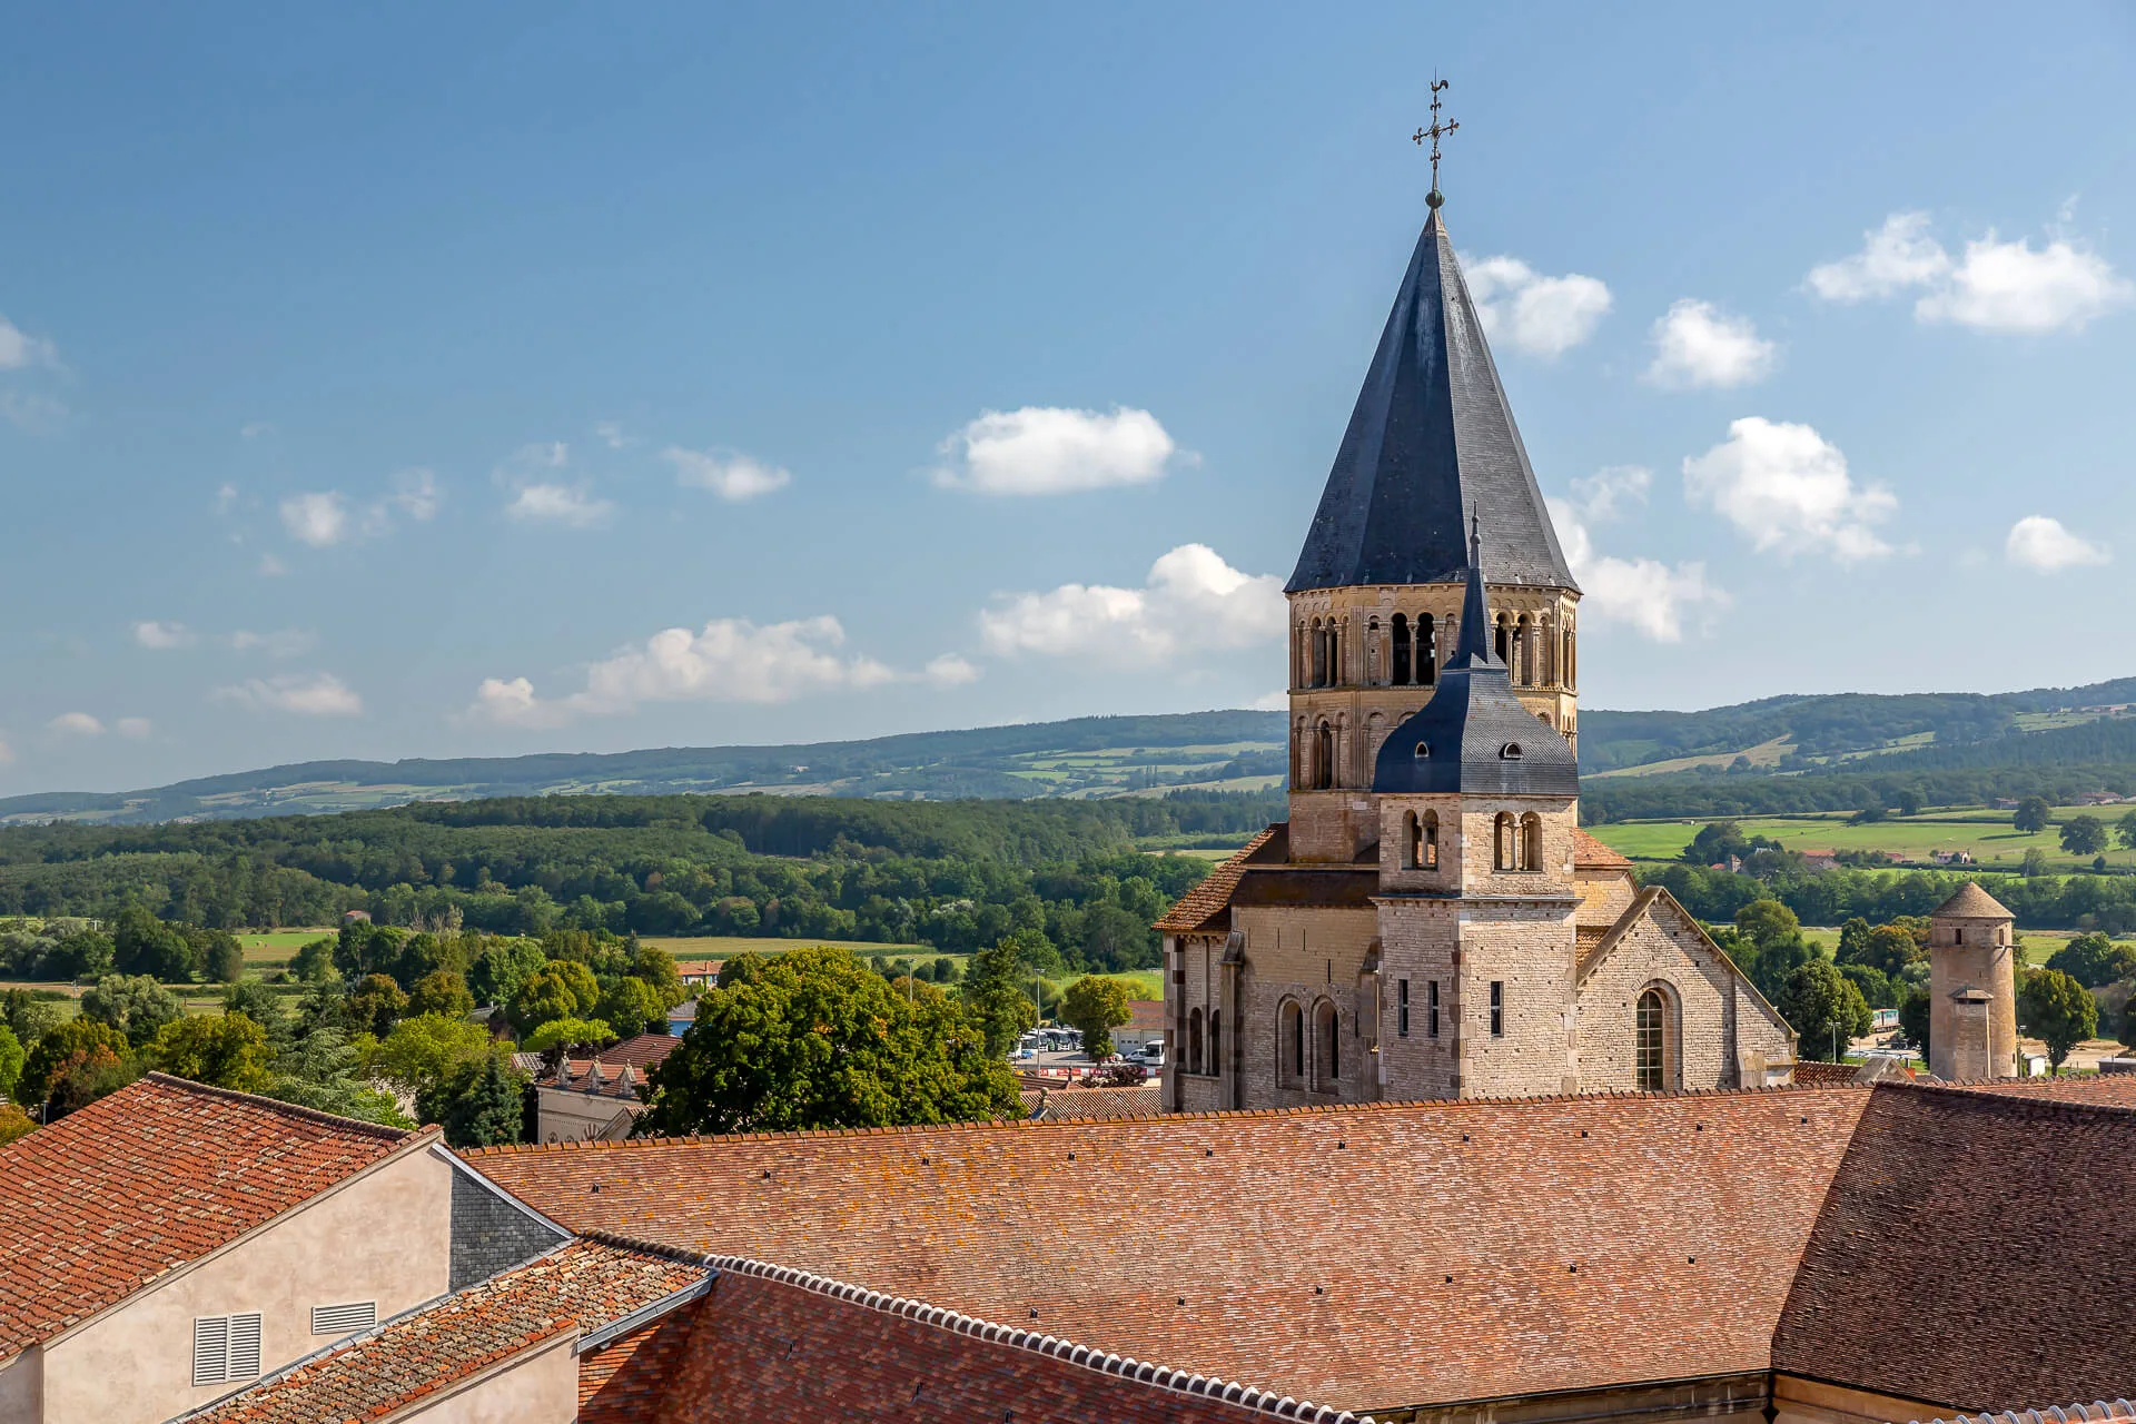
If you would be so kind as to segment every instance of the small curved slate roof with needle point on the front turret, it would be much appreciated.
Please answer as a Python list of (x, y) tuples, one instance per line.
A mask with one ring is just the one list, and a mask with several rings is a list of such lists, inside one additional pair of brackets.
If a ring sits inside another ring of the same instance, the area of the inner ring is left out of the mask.
[[(1485, 632), (1482, 549), (1470, 538), (1461, 640), (1440, 687), (1380, 745), (1371, 790), (1393, 794), (1579, 796), (1572, 743), (1521, 707)], [(1519, 747), (1519, 756), (1508, 756)]]

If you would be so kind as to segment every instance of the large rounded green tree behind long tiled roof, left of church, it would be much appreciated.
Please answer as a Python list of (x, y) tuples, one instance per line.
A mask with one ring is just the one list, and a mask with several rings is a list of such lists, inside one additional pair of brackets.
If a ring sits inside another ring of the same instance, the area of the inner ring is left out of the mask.
[(647, 1074), (639, 1132), (792, 1132), (1006, 1117), (1017, 1080), (944, 995), (891, 993), (848, 950), (765, 956), (698, 999), (696, 1023)]

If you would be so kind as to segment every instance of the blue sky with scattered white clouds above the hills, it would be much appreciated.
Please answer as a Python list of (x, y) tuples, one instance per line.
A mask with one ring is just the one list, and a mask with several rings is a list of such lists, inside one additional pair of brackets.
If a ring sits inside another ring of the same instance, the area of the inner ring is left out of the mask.
[(2136, 673), (2136, 11), (45, 6), (0, 794), (1279, 705), (1444, 218), (1587, 707)]

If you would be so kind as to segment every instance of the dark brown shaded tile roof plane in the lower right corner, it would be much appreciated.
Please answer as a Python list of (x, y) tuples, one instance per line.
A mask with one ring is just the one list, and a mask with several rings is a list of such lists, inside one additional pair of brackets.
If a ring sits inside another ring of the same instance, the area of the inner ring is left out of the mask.
[[(2136, 1110), (1873, 1089), (1773, 1366), (1965, 1413), (2125, 1394), (2130, 1181)], [(2072, 1287), (2100, 1311), (2057, 1309)]]

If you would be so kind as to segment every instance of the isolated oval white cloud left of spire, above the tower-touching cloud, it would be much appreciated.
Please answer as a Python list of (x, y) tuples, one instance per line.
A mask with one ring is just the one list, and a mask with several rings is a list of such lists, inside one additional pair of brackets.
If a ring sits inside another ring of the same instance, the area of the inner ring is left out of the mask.
[(944, 489), (980, 495), (1064, 495), (1164, 478), (1179, 450), (1147, 410), (1113, 414), (1025, 406), (989, 410), (942, 442), (948, 463), (933, 472)]

